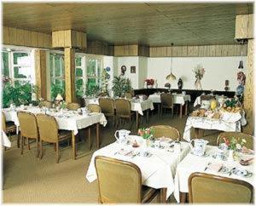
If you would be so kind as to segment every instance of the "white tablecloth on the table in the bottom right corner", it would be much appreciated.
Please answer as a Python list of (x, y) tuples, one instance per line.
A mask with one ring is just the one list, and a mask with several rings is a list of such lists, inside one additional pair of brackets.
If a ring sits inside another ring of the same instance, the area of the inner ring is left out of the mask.
[[(253, 172), (253, 164), (250, 164), (248, 166), (241, 166), (239, 162), (230, 162), (230, 161), (222, 161), (218, 159), (214, 159), (212, 157), (212, 154), (216, 154), (218, 150), (217, 146), (207, 146), (207, 153), (209, 154), (208, 157), (197, 157), (195, 155), (192, 155), (189, 153), (186, 157), (183, 158), (183, 161), (177, 165), (176, 169), (176, 175), (175, 175), (175, 190), (174, 190), (174, 197), (177, 200), (177, 203), (180, 202), (179, 200), (179, 192), (189, 192), (189, 186), (188, 186), (188, 180), (189, 175), (195, 172), (202, 172), (202, 173), (208, 173), (212, 175), (219, 175), (219, 176), (225, 176), (230, 177), (238, 180), (244, 180), (250, 183), (251, 185), (255, 185), (252, 177), (241, 177), (239, 175), (229, 175), (229, 174), (222, 174), (219, 172), (214, 172), (211, 169), (207, 169), (204, 171), (204, 169), (207, 167), (208, 163), (223, 163), (224, 166), (232, 169), (234, 167), (238, 169), (247, 169), (250, 172)], [(246, 157), (251, 157), (249, 155), (245, 155)]]

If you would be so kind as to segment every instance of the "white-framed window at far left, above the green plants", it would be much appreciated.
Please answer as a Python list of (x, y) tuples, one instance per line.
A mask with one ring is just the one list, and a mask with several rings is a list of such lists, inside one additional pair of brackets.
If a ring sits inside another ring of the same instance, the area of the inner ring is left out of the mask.
[(30, 51), (8, 51), (4, 49), (2, 58), (2, 74), (4, 77), (9, 77), (14, 84), (20, 81), (32, 82), (34, 70)]

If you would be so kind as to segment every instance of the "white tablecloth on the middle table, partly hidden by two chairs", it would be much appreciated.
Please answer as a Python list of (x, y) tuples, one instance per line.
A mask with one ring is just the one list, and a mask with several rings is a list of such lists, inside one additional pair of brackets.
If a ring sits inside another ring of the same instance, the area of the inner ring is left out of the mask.
[[(99, 98), (84, 98), (86, 106), (89, 104), (99, 105)], [(131, 111), (138, 112), (140, 115), (143, 115), (145, 110), (154, 110), (154, 105), (152, 100), (131, 100)]]

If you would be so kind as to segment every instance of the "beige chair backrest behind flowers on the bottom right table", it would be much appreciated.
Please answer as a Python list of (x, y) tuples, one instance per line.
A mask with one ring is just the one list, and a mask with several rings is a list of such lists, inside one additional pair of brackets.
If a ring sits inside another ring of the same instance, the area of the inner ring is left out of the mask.
[(231, 140), (232, 137), (235, 139), (245, 139), (247, 142), (243, 145), (246, 146), (248, 149), (253, 150), (253, 136), (249, 134), (243, 134), (241, 132), (223, 132), (218, 134), (218, 139), (217, 139), (217, 145), (224, 143), (224, 137), (228, 138)]

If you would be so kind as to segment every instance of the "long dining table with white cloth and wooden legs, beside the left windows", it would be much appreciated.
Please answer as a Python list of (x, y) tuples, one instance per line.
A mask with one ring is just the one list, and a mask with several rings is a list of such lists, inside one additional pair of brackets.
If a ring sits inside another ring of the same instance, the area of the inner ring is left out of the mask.
[[(86, 110), (86, 108), (81, 108)], [(6, 116), (6, 121), (14, 122), (17, 127), (17, 134), (19, 133), (20, 122), (18, 118), (18, 112), (31, 112), (34, 115), (38, 113), (48, 114), (55, 117), (59, 129), (72, 131), (72, 147), (73, 147), (73, 159), (76, 158), (76, 134), (79, 133), (79, 129), (88, 128), (93, 124), (96, 124), (96, 145), (99, 148), (100, 141), (100, 124), (106, 126), (107, 119), (103, 113), (100, 112), (83, 112), (79, 113), (73, 110), (60, 110), (55, 112), (54, 109), (47, 109), (46, 107), (38, 106), (18, 106), (16, 108), (4, 108), (3, 112)]]

